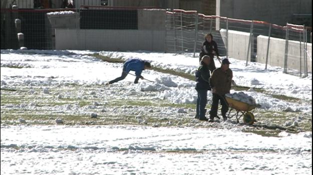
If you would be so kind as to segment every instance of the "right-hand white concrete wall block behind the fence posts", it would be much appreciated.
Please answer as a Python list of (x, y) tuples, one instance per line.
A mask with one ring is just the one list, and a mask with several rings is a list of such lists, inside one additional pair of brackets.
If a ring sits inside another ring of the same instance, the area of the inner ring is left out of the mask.
[[(256, 61), (260, 63), (266, 62), (266, 49), (267, 49), (268, 36), (257, 36), (257, 58)], [(303, 61), (303, 44), (301, 45), (301, 60)], [(312, 44), (307, 43), (307, 50), (312, 55)], [(270, 37), (269, 51), (268, 51), (268, 64), (272, 66), (284, 66), (285, 57), (285, 40), (280, 38)], [(299, 41), (288, 41), (288, 60), (287, 68), (300, 69), (300, 43)], [(303, 65), (303, 62), (302, 62)], [(312, 60), (307, 56), (308, 71), (312, 72)], [(303, 71), (303, 67), (302, 67)]]

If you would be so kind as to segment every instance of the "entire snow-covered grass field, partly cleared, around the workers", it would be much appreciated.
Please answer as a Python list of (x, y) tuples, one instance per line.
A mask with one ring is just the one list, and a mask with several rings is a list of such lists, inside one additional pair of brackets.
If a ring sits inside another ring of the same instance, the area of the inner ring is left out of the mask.
[[(260, 104), (257, 122), (208, 123), (193, 119), (194, 81), (144, 70), (155, 83), (133, 84), (128, 75), (104, 86), (121, 74), (122, 63), (90, 53), (1, 50), (1, 174), (311, 174), (311, 74), (230, 59), (238, 85), (265, 91), (244, 91)], [(100, 54), (186, 73), (198, 59)], [(281, 94), (292, 98), (275, 96)], [(208, 100), (209, 108), (210, 92)]]

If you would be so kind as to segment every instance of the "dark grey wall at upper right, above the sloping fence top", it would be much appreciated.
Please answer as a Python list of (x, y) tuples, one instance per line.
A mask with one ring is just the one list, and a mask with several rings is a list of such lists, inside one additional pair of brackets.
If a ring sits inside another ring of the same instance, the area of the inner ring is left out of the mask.
[(312, 14), (312, 0), (217, 0), (216, 3), (220, 10), (216, 15), (280, 25), (291, 22), (294, 13)]

